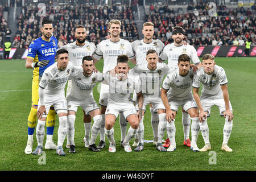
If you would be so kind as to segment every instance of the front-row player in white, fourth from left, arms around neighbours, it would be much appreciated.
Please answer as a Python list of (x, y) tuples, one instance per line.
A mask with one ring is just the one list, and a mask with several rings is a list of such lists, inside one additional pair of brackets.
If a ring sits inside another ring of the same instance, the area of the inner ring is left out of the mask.
[[(166, 111), (163, 105), (163, 102), (160, 98), (160, 86), (164, 75), (169, 73), (170, 68), (165, 63), (158, 63), (159, 57), (155, 49), (149, 49), (146, 53), (147, 64), (136, 65), (131, 69), (130, 73), (138, 74), (142, 82), (142, 94), (143, 94), (143, 111), (146, 111), (146, 106), (152, 104), (154, 112), (157, 112), (159, 115), (159, 123), (166, 123)], [(143, 115), (144, 115), (143, 112)], [(139, 144), (134, 149), (134, 151), (142, 151), (144, 148), (143, 137), (144, 137), (144, 125), (143, 118), (139, 121), (139, 130), (138, 138)], [(159, 137), (159, 135), (161, 137)], [(164, 130), (159, 131), (156, 135), (156, 149), (159, 151), (166, 151), (162, 146), (162, 139), (164, 135)]]

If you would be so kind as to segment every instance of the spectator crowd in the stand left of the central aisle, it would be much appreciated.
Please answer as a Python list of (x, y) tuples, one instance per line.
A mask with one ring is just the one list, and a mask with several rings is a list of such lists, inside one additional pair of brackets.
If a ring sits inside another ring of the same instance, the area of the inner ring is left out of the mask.
[[(14, 38), (13, 47), (27, 48), (31, 41), (42, 36), (40, 27), (43, 17), (38, 16), (36, 4), (22, 7), (22, 14), (18, 15), (18, 31)], [(76, 40), (74, 32), (77, 24), (86, 27), (86, 40), (99, 44), (108, 35), (108, 22), (119, 19), (122, 23), (121, 38), (138, 39), (137, 26), (131, 6), (94, 6), (94, 5), (61, 5), (46, 6), (46, 18), (53, 22), (54, 36), (58, 39), (58, 46)]]

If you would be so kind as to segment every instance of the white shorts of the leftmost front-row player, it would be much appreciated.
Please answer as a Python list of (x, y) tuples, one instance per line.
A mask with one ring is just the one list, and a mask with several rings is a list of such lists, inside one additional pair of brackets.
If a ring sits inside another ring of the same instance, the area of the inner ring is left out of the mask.
[[(45, 98), (44, 99), (44, 106), (46, 106), (46, 113), (48, 115), (50, 107), (53, 105), (54, 110), (57, 114), (59, 113), (68, 113), (67, 109), (67, 101), (65, 97), (51, 97), (51, 98)], [(38, 102), (38, 109), (41, 106), (40, 100)], [(43, 117), (47, 116), (46, 114), (43, 114)]]

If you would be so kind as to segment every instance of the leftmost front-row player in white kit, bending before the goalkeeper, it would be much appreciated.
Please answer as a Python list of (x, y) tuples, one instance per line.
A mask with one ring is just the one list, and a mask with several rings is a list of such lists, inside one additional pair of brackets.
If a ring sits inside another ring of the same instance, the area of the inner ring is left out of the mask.
[(73, 72), (72, 63), (68, 63), (68, 51), (60, 49), (56, 52), (56, 63), (44, 71), (39, 83), (38, 125), (36, 126), (36, 140), (38, 147), (32, 154), (41, 154), (43, 151), (44, 125), (51, 105), (54, 106), (59, 117), (58, 142), (56, 153), (66, 155), (62, 145), (67, 134), (67, 101), (65, 99), (65, 85)]

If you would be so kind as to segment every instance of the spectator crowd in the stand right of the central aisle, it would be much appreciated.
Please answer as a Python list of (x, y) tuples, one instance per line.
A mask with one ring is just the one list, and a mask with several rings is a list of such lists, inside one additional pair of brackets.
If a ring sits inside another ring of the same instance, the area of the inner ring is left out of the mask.
[(243, 46), (246, 39), (255, 44), (255, 6), (253, 9), (227, 9), (217, 6), (217, 14), (209, 15), (210, 7), (201, 3), (189, 5), (179, 14), (167, 5), (150, 6), (145, 21), (155, 24), (155, 38), (172, 43), (172, 28), (181, 26), (193, 46)]

